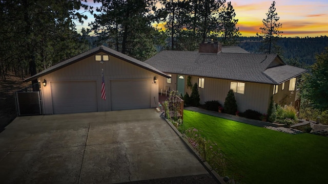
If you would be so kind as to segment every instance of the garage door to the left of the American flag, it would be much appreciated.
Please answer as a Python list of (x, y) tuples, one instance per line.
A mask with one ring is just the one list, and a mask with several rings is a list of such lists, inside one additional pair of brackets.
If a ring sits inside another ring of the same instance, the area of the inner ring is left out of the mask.
[(95, 112), (96, 81), (51, 82), (53, 113)]

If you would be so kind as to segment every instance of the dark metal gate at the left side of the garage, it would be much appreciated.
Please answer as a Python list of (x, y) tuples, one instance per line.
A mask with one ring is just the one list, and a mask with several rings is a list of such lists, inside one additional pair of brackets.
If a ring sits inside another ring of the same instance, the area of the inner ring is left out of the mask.
[(42, 114), (40, 90), (33, 91), (33, 87), (27, 87), (25, 89), (16, 91), (14, 93), (14, 97), (16, 102), (17, 116)]

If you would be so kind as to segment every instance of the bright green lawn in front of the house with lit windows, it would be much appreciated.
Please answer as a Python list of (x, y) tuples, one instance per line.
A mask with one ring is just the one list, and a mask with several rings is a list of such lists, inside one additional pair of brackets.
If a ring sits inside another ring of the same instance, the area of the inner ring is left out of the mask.
[(326, 183), (328, 137), (292, 135), (184, 110), (182, 129), (203, 131), (241, 183)]

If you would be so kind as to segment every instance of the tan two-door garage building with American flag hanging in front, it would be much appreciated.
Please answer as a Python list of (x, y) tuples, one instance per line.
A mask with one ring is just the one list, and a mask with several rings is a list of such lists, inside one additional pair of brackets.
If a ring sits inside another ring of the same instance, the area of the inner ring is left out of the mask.
[(157, 107), (159, 77), (170, 78), (145, 62), (100, 46), (25, 81), (45, 82), (40, 85), (43, 114), (61, 114)]

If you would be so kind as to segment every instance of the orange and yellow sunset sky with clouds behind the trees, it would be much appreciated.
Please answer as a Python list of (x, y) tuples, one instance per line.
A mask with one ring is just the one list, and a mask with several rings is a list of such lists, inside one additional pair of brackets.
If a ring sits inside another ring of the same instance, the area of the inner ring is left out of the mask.
[[(242, 36), (256, 36), (263, 26), (262, 19), (267, 18), (265, 13), (272, 1), (264, 0), (233, 0), (231, 1), (239, 21), (237, 27)], [(328, 0), (276, 0), (276, 12), (282, 24), (280, 31), (283, 37), (315, 37), (328, 36)], [(93, 0), (88, 0), (91, 6)], [(95, 8), (94, 8), (95, 10)], [(88, 20), (84, 25), (77, 24), (78, 31), (81, 27), (88, 27), (88, 22), (93, 21), (93, 15), (87, 14)]]

